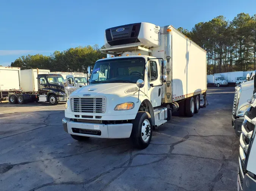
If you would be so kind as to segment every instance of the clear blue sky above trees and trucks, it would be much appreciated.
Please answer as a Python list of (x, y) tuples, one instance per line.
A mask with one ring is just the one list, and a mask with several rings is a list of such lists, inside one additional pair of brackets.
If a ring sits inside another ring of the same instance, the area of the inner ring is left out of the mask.
[(189, 30), (218, 15), (256, 14), (255, 0), (1, 0), (0, 65), (21, 55), (50, 55), (104, 44), (105, 29), (136, 22)]

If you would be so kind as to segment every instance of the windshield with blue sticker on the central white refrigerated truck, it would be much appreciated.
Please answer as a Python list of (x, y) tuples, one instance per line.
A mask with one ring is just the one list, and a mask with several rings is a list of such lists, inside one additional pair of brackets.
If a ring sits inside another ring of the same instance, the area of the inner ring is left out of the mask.
[(136, 83), (144, 80), (144, 68), (145, 60), (138, 57), (101, 60), (94, 65), (90, 84)]

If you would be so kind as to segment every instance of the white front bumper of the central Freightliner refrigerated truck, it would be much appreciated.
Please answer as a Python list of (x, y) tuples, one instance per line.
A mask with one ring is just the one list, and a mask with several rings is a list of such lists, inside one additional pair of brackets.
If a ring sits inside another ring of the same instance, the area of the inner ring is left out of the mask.
[(132, 132), (132, 123), (123, 124), (100, 124), (100, 123), (82, 123), (62, 119), (64, 131), (69, 134), (85, 137), (98, 137), (121, 139), (129, 138)]

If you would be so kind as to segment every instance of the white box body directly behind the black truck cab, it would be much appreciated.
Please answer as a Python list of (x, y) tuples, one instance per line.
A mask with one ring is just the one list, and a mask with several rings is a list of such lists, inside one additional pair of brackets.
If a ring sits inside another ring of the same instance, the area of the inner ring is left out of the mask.
[(20, 85), (23, 92), (38, 92), (38, 74), (49, 74), (48, 69), (25, 69), (20, 71)]

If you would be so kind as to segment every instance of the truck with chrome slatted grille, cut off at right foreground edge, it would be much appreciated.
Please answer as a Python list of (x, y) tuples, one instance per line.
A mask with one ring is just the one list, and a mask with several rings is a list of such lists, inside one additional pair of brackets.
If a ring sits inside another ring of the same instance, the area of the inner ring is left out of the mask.
[(254, 95), (248, 100), (249, 105), (245, 112), (239, 139), (238, 191), (256, 190), (256, 79), (253, 81), (254, 90), (251, 95)]

